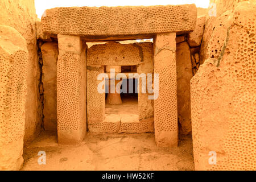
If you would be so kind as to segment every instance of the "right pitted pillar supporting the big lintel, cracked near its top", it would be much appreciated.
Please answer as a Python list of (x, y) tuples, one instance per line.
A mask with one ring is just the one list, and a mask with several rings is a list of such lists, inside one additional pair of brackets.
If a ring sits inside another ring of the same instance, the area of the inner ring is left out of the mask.
[(167, 33), (157, 34), (154, 40), (154, 72), (159, 74), (159, 96), (154, 102), (154, 120), (155, 140), (159, 147), (177, 147), (175, 39), (176, 33)]

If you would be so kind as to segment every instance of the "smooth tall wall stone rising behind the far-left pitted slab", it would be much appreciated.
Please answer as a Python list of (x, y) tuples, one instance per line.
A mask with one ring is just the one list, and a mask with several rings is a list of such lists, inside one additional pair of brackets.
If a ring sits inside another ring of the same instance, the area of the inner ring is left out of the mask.
[(34, 0), (1, 0), (0, 25), (15, 28), (27, 41), (28, 72), (26, 98), (26, 127), (24, 141), (32, 140), (40, 133), (42, 106), (39, 100), (39, 66), (36, 50)]

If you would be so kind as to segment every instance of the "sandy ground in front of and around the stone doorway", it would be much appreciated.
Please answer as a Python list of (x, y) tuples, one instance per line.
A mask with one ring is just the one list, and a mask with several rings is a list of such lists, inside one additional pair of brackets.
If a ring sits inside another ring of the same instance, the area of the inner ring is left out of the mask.
[[(46, 165), (39, 165), (39, 151)], [(22, 170), (194, 170), (192, 138), (172, 150), (158, 148), (154, 134), (92, 134), (79, 146), (59, 146), (56, 134), (42, 133), (24, 147)]]

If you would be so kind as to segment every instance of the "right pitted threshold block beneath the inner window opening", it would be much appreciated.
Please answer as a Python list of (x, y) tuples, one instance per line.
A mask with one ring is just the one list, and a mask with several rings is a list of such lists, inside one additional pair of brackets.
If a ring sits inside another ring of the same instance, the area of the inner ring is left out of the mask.
[(136, 114), (121, 114), (121, 126), (118, 133), (152, 133), (154, 132), (154, 118), (139, 121)]

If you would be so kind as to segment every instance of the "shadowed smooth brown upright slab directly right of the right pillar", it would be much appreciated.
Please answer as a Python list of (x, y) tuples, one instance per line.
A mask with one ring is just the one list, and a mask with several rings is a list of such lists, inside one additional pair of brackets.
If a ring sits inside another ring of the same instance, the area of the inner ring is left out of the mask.
[(190, 80), (193, 77), (187, 42), (177, 44), (177, 112), (180, 134), (191, 134)]

